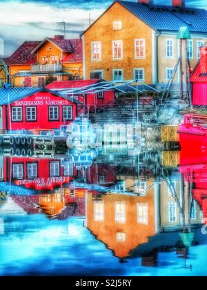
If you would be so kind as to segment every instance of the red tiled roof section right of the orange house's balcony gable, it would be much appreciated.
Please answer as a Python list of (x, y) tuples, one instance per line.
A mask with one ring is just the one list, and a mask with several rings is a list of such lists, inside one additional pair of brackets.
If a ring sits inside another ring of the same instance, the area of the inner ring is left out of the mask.
[(70, 39), (73, 52), (63, 58), (63, 63), (66, 62), (82, 62), (83, 61), (83, 43), (82, 39)]

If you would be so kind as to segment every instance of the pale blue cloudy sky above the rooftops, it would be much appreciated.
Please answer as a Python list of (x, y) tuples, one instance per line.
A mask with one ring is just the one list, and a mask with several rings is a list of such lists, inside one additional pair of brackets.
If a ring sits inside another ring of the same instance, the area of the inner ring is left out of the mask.
[[(112, 1), (0, 0), (0, 39), (4, 41), (4, 56), (11, 55), (23, 41), (63, 34), (63, 21), (67, 38), (79, 37), (88, 27), (89, 14), (94, 21)], [(155, 0), (155, 4), (170, 3), (171, 0)], [(207, 0), (186, 0), (186, 5), (207, 9)]]

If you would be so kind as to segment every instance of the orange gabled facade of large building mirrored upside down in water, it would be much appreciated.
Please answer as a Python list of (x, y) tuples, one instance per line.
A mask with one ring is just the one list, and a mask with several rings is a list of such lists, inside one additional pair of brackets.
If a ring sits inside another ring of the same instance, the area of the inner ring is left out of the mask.
[(127, 257), (155, 235), (154, 191), (139, 197), (108, 193), (95, 198), (88, 193), (86, 224), (117, 257)]

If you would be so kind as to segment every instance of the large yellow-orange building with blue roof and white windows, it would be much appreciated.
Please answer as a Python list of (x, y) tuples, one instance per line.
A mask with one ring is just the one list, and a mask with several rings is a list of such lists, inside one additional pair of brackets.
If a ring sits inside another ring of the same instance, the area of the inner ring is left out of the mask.
[(84, 79), (166, 83), (179, 57), (181, 26), (190, 30), (188, 55), (195, 67), (199, 46), (207, 41), (207, 11), (185, 8), (184, 3), (177, 8), (142, 2), (115, 1), (83, 32)]

